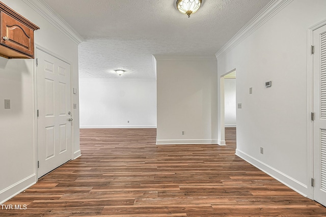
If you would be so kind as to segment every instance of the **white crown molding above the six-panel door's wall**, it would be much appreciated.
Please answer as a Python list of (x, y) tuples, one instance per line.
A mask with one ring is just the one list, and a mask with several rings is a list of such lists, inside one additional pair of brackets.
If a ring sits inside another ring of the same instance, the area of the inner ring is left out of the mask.
[(50, 8), (43, 0), (22, 0), (26, 5), (34, 9), (39, 15), (65, 34), (77, 45), (84, 42), (80, 36), (57, 12)]

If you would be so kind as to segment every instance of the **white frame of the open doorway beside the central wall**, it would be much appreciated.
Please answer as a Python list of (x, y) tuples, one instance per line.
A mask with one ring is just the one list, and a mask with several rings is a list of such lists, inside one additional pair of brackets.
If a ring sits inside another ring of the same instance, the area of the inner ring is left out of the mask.
[(220, 112), (219, 112), (219, 119), (220, 119), (220, 126), (219, 126), (219, 145), (226, 145), (225, 142), (225, 87), (224, 87), (224, 77), (232, 72), (236, 71), (234, 68), (233, 70), (223, 74), (220, 76)]

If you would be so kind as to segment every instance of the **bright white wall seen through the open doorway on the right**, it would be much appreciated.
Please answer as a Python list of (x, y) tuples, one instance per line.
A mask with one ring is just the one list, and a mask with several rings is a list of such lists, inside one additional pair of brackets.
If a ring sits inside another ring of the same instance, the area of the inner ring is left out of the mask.
[(225, 127), (236, 127), (235, 78), (224, 78)]

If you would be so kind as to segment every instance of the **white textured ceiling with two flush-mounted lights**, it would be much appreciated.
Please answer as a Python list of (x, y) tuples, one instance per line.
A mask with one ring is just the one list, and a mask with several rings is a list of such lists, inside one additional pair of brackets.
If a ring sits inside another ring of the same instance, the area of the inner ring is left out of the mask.
[[(270, 0), (203, 0), (190, 18), (176, 0), (43, 0), (85, 39), (79, 78), (155, 79), (152, 55), (214, 55)], [(124, 69), (121, 77), (114, 70)]]

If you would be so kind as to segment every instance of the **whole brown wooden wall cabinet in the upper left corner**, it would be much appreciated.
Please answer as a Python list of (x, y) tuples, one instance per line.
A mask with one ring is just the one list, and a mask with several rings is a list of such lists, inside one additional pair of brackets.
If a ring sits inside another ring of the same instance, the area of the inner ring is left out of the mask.
[(38, 26), (0, 2), (0, 56), (34, 58), (34, 30)]

